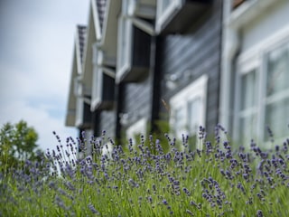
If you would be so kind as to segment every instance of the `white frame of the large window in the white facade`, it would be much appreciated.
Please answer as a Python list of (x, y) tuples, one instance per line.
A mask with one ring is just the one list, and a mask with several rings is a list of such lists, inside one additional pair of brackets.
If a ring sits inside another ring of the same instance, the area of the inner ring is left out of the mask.
[[(284, 44), (289, 44), (289, 29), (284, 29), (278, 33), (275, 33), (271, 37), (266, 38), (256, 44), (256, 46), (252, 47), (247, 52), (243, 52), (238, 57), (237, 63), (237, 76), (236, 76), (236, 95), (235, 95), (235, 116), (234, 116), (234, 138), (238, 140), (238, 112), (239, 112), (239, 104), (238, 99), (240, 97), (240, 87), (239, 87), (239, 78), (242, 73), (247, 73), (255, 67), (257, 71), (257, 105), (256, 105), (256, 135), (254, 137), (256, 142), (262, 143), (264, 147), (272, 147), (272, 144), (269, 141), (265, 141), (266, 132), (266, 105), (267, 105), (267, 97), (266, 97), (266, 64), (267, 64), (267, 55), (269, 52), (275, 51), (279, 47)], [(270, 126), (269, 126), (270, 127)], [(282, 126), (286, 127), (286, 126)], [(273, 133), (278, 130), (272, 128)], [(282, 142), (284, 137), (275, 137), (275, 142)], [(246, 146), (249, 144), (245, 144)]]

